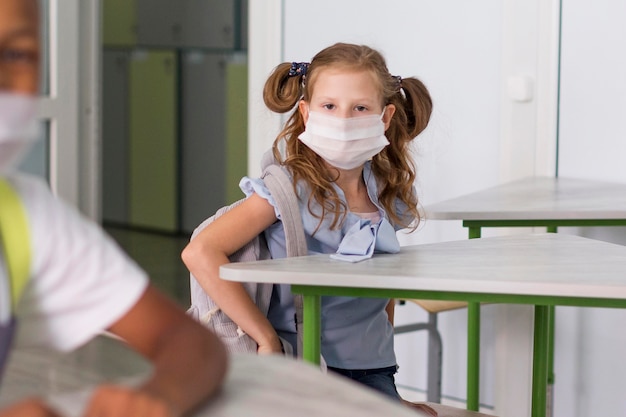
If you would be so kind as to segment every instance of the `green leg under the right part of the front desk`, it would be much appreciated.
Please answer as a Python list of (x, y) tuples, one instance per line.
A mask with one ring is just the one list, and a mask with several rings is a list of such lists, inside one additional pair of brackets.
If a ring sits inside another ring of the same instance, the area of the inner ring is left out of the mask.
[(550, 337), (550, 308), (535, 306), (535, 336), (533, 341), (532, 417), (545, 417), (548, 385), (548, 341)]

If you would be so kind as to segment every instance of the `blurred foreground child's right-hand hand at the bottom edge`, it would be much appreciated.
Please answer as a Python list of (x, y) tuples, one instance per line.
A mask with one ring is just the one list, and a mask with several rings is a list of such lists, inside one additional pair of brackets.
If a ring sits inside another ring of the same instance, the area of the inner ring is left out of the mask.
[(178, 417), (171, 404), (148, 392), (114, 385), (99, 387), (85, 417), (150, 416)]

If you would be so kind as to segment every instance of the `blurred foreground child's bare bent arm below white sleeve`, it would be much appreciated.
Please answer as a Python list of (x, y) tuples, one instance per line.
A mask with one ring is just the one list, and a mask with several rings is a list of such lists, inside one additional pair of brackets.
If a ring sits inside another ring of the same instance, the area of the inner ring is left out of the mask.
[(99, 387), (87, 416), (186, 415), (215, 394), (226, 374), (217, 336), (151, 286), (108, 330), (150, 359), (154, 372), (136, 389)]

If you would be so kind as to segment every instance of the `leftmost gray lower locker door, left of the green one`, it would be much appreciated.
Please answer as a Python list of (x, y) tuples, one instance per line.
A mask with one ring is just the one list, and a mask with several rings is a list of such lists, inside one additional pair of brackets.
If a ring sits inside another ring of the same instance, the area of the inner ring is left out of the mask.
[(128, 56), (102, 54), (102, 219), (128, 223)]

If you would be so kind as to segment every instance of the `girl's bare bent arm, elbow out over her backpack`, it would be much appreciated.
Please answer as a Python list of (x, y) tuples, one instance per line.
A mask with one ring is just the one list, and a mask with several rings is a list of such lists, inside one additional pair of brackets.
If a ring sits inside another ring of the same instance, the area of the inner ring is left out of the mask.
[(274, 208), (252, 194), (200, 232), (183, 250), (182, 259), (204, 291), (257, 344), (258, 353), (280, 353), (276, 331), (238, 282), (219, 278), (219, 267), (270, 225), (276, 222)]

